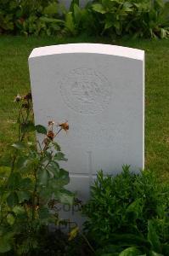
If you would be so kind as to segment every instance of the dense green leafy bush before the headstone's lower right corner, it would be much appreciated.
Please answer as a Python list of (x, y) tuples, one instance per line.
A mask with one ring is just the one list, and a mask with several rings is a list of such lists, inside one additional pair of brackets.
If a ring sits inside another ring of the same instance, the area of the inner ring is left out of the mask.
[(115, 177), (99, 172), (83, 207), (97, 255), (168, 255), (168, 195), (152, 172), (137, 175), (128, 166)]

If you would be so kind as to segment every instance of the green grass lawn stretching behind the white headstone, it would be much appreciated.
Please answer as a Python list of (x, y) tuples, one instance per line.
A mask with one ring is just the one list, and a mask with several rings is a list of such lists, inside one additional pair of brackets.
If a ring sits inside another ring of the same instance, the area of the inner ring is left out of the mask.
[(0, 37), (0, 161), (16, 137), (14, 96), (30, 90), (28, 56), (35, 47), (67, 43), (118, 44), (144, 49), (145, 167), (169, 179), (169, 40)]

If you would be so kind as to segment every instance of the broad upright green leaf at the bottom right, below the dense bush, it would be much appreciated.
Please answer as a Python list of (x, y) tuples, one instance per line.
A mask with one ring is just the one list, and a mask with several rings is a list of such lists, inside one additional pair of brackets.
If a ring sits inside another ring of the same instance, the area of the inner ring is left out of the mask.
[(148, 221), (148, 240), (152, 246), (152, 249), (156, 253), (161, 253), (161, 242), (156, 234), (154, 222), (152, 220)]

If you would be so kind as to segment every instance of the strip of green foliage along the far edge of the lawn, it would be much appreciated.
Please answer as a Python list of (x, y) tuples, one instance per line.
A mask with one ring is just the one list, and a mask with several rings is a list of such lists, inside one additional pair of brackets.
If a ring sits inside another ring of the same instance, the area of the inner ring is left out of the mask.
[(72, 0), (68, 10), (57, 0), (2, 0), (0, 33), (168, 38), (168, 14), (163, 0), (95, 0), (84, 8)]

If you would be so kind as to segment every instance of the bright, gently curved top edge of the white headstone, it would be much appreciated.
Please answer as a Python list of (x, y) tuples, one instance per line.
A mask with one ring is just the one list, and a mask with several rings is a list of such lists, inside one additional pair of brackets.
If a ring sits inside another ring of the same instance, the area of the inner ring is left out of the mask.
[(58, 44), (45, 47), (38, 47), (31, 51), (29, 61), (32, 58), (46, 56), (46, 55), (59, 55), (59, 54), (74, 54), (74, 53), (88, 53), (100, 55), (115, 55), (127, 57), (139, 61), (144, 61), (144, 50), (133, 49), (123, 46), (111, 44)]

